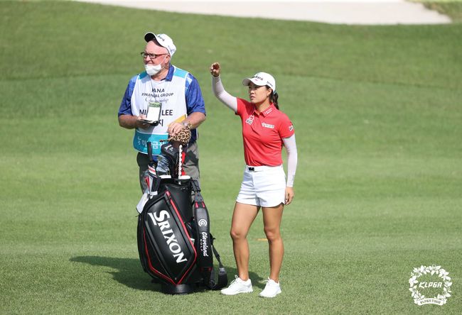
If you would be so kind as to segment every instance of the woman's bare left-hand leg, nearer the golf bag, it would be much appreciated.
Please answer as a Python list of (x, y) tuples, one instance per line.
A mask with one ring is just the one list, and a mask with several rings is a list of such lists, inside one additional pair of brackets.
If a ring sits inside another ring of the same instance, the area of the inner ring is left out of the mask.
[(249, 243), (247, 233), (258, 214), (259, 207), (236, 202), (232, 214), (231, 238), (234, 250), (237, 274), (241, 280), (249, 279)]

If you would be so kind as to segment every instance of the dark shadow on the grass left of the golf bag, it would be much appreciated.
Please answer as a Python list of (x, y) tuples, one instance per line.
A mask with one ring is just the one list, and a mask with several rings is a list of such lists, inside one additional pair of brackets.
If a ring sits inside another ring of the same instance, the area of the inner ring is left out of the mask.
[(114, 258), (100, 256), (78, 256), (70, 258), (72, 262), (84, 262), (92, 266), (105, 266), (117, 269), (107, 272), (119, 283), (132, 289), (161, 291), (161, 284), (152, 283), (152, 278), (143, 271), (141, 262), (134, 258)]

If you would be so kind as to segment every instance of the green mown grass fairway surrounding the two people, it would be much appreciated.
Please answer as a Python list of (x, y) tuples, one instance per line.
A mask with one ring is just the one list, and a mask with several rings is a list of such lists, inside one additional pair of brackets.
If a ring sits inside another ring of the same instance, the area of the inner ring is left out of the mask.
[[(143, 272), (132, 131), (117, 110), (141, 72), (146, 31), (198, 78), (203, 195), (228, 276), (244, 158), (231, 94), (274, 74), (299, 149), (284, 210), (283, 293), (262, 216), (249, 233), (254, 292), (169, 296)], [(0, 2), (0, 314), (460, 314), (462, 23), (331, 26), (184, 15), (65, 1)], [(441, 265), (452, 296), (417, 306), (414, 267)]]

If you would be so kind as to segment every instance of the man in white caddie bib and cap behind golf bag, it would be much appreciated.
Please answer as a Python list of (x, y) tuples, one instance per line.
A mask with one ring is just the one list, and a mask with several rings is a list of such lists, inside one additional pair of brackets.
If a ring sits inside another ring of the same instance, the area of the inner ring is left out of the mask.
[[(189, 125), (191, 138), (186, 149), (183, 170), (199, 179), (199, 151), (196, 128), (205, 121), (205, 104), (197, 79), (186, 70), (171, 65), (176, 52), (173, 40), (166, 34), (146, 33), (146, 47), (141, 52), (145, 71), (129, 81), (119, 108), (119, 125), (135, 129), (133, 147), (138, 151), (141, 192), (146, 189), (144, 172), (148, 168), (147, 143), (153, 154), (161, 153), (161, 140), (175, 136)], [(159, 111), (153, 120), (148, 110)], [(160, 110), (159, 110), (160, 109)], [(156, 157), (155, 157), (156, 158)]]

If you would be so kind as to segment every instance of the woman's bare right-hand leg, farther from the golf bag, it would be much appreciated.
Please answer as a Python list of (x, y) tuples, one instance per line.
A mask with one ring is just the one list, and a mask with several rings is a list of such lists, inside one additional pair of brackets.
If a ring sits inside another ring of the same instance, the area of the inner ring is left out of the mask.
[(284, 257), (284, 244), (279, 231), (283, 210), (284, 204), (274, 207), (262, 207), (264, 233), (267, 236), (269, 245), (269, 278), (276, 282), (279, 282), (279, 271)]

